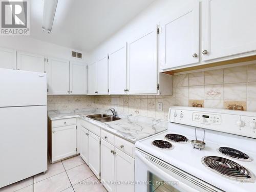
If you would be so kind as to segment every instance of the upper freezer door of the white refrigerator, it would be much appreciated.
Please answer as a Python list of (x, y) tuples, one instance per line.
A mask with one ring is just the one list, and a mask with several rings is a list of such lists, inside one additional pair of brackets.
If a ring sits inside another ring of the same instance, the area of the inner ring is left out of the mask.
[(46, 73), (0, 69), (0, 108), (47, 105)]

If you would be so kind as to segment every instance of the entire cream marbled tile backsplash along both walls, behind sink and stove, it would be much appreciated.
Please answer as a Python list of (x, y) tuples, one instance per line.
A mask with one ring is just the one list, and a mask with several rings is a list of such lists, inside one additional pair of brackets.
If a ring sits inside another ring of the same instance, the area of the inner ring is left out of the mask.
[[(255, 62), (256, 63), (256, 62)], [(115, 108), (119, 113), (167, 119), (170, 106), (202, 104), (227, 109), (229, 104), (256, 111), (256, 64), (174, 76), (173, 95), (48, 96), (48, 110)]]

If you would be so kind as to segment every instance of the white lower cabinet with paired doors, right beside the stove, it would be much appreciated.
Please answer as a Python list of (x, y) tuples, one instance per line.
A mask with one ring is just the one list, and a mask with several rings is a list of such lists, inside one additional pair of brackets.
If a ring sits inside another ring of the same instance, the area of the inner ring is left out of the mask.
[[(125, 142), (119, 146), (120, 143), (116, 143), (116, 141), (123, 139), (117, 136), (114, 136), (115, 143), (112, 145), (107, 142), (109, 136), (104, 136), (104, 134), (104, 131), (101, 131), (101, 183), (109, 192), (133, 192), (134, 185), (124, 182), (134, 182), (135, 160), (118, 149), (121, 147), (123, 150), (123, 148), (130, 146)], [(132, 147), (134, 148), (134, 144)]]

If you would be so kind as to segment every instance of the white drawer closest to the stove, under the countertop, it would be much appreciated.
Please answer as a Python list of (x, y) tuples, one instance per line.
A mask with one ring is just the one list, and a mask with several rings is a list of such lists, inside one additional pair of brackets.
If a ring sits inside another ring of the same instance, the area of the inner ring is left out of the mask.
[(117, 147), (122, 152), (135, 157), (135, 145), (134, 143), (131, 143), (129, 141), (126, 141), (125, 139), (122, 139), (118, 136), (115, 136), (115, 147)]

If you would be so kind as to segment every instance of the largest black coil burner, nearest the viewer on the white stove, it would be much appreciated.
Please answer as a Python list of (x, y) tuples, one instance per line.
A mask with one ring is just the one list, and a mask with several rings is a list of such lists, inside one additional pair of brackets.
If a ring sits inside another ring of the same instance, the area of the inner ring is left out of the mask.
[(255, 176), (248, 169), (232, 160), (217, 156), (207, 156), (202, 158), (202, 163), (229, 179), (240, 182), (255, 182)]

